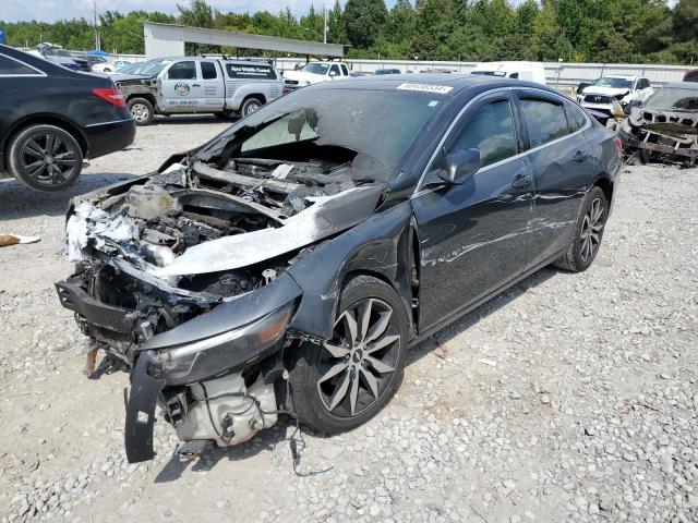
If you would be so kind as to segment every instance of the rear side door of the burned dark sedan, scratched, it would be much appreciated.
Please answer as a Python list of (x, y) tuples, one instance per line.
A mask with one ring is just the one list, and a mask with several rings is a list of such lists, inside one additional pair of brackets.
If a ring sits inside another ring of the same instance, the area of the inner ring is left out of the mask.
[(535, 186), (530, 268), (567, 245), (594, 165), (583, 136), (591, 126), (586, 113), (547, 92), (520, 89), (518, 97)]

